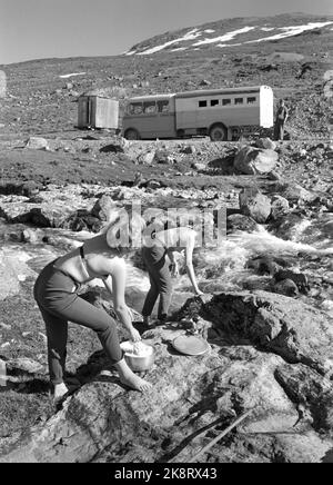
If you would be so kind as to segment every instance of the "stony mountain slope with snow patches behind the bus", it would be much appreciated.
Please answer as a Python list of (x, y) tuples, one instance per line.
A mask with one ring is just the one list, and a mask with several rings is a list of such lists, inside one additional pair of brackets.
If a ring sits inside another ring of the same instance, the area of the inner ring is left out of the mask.
[[(332, 29), (333, 18), (316, 16), (239, 18), (154, 37), (134, 46), (132, 55), (40, 59), (0, 67), (8, 78), (8, 97), (0, 100), (0, 137), (57, 136), (73, 130), (77, 97), (91, 90), (123, 103), (131, 96), (269, 85), (276, 100), (286, 99), (293, 138), (327, 138), (331, 106), (325, 92), (333, 63)], [(175, 42), (186, 34), (186, 40)], [(274, 36), (280, 37), (258, 41)], [(165, 47), (168, 42), (173, 43)]]

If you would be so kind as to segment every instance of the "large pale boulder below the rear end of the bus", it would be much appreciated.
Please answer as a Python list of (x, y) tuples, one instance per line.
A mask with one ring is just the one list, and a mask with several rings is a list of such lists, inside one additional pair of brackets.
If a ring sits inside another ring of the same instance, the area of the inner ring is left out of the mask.
[(263, 175), (274, 170), (279, 156), (274, 150), (244, 147), (234, 159), (234, 168), (244, 175)]

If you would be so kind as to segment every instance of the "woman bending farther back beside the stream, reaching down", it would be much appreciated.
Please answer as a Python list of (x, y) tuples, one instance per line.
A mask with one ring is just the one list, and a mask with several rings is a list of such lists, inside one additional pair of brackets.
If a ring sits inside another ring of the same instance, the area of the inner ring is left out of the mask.
[(142, 258), (149, 273), (150, 290), (147, 295), (142, 316), (147, 325), (151, 323), (151, 314), (160, 297), (158, 319), (162, 323), (168, 319), (172, 298), (172, 277), (179, 275), (179, 265), (174, 258), (175, 253), (184, 250), (185, 266), (193, 291), (200, 296), (192, 255), (195, 246), (196, 232), (190, 227), (178, 227), (152, 231), (142, 247)]

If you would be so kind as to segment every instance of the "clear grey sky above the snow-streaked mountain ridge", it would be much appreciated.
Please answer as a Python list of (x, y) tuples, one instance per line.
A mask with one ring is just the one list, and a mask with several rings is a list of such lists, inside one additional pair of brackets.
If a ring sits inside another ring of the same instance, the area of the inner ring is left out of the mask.
[(169, 30), (284, 12), (332, 14), (333, 0), (0, 0), (0, 63), (113, 56)]

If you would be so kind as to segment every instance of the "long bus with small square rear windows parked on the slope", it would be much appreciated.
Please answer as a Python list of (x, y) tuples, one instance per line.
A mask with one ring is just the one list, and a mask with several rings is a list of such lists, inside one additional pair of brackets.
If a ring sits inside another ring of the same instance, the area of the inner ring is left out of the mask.
[(269, 86), (210, 89), (129, 99), (122, 132), (128, 140), (209, 136), (236, 140), (274, 123)]

